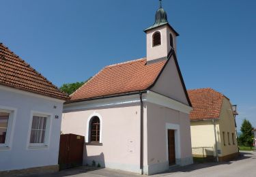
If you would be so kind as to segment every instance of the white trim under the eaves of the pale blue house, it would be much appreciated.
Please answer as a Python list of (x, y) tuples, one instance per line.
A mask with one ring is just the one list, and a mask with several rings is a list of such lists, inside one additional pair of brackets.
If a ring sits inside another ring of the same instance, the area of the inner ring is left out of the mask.
[(9, 86), (0, 85), (0, 90), (10, 91), (12, 93), (19, 93), (19, 94), (22, 94), (22, 95), (29, 95), (30, 97), (37, 97), (37, 98), (47, 99), (47, 100), (56, 101), (56, 102), (59, 102), (59, 103), (64, 103), (65, 102), (65, 100), (56, 99), (56, 98), (53, 98), (53, 97), (47, 97), (47, 96), (44, 96), (44, 95), (31, 93), (29, 91), (22, 91), (22, 90), (19, 90), (18, 88), (12, 88), (12, 87), (9, 87)]

